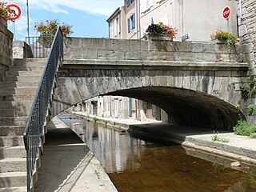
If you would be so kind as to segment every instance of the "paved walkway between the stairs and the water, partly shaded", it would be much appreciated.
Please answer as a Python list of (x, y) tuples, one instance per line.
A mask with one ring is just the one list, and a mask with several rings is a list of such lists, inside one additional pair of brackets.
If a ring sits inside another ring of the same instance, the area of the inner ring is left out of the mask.
[(116, 192), (90, 149), (70, 128), (53, 118), (46, 134), (36, 192)]

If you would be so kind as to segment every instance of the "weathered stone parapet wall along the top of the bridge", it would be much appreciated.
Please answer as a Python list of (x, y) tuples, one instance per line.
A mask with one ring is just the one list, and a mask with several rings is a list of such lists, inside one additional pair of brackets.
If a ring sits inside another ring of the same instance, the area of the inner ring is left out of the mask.
[(241, 46), (215, 42), (66, 38), (64, 52), (66, 59), (245, 62)]

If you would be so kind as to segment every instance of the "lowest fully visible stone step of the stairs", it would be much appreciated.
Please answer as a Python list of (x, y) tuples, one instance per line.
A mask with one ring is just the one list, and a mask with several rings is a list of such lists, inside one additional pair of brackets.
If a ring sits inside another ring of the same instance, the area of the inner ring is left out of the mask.
[(0, 173), (1, 188), (26, 186), (26, 172)]

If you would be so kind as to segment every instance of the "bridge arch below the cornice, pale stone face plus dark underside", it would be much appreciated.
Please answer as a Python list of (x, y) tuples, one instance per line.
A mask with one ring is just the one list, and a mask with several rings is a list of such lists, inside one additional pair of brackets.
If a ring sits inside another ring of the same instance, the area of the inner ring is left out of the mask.
[(160, 106), (174, 125), (232, 130), (239, 115), (234, 71), (62, 70), (54, 96), (54, 115), (98, 95), (138, 98)]

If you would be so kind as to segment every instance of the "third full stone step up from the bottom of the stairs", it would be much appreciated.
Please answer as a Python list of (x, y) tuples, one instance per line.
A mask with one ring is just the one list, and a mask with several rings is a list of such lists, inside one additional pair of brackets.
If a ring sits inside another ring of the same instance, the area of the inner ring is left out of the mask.
[(26, 158), (24, 146), (0, 146), (0, 158)]

